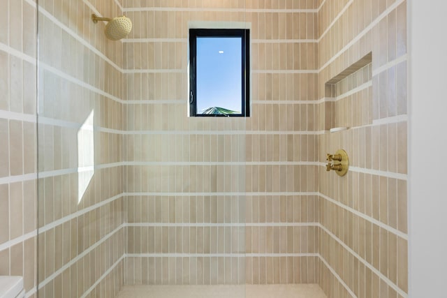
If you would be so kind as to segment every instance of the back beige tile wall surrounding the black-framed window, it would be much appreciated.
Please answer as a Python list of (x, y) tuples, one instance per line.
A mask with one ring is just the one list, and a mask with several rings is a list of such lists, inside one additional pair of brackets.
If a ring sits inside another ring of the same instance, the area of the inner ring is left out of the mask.
[[(126, 284), (316, 282), (315, 1), (124, 11)], [(251, 23), (252, 117), (186, 116), (189, 21)]]

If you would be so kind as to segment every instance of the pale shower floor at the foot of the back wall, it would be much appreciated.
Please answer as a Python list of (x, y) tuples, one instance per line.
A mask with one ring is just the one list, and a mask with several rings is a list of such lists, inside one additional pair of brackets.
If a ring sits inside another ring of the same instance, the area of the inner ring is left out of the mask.
[(117, 298), (326, 298), (318, 285), (126, 285)]

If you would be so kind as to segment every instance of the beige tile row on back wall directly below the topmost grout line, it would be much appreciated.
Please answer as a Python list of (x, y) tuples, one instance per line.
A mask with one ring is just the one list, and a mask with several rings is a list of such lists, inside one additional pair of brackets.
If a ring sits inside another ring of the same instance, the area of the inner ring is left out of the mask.
[[(222, 2), (222, 1), (218, 1)], [(135, 20), (128, 38), (188, 38), (189, 20), (205, 22), (251, 22), (251, 38), (254, 39), (316, 39), (316, 13), (314, 10), (297, 11), (272, 8), (151, 8), (135, 7), (126, 15)], [(140, 10), (140, 11), (135, 11)], [(167, 20), (167, 22), (163, 22)], [(302, 27), (300, 30), (295, 28)]]

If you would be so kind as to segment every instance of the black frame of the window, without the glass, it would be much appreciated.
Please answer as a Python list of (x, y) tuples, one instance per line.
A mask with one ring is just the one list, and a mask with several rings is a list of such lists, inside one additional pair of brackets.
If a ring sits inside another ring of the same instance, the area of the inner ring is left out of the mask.
[[(198, 114), (196, 55), (198, 37), (240, 37), (242, 38), (242, 111), (240, 114)], [(190, 117), (249, 117), (250, 116), (250, 31), (249, 29), (189, 29), (189, 116)]]

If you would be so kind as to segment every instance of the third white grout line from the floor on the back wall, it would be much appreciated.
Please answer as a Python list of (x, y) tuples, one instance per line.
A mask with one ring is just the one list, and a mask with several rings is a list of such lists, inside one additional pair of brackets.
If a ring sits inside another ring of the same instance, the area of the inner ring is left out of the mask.
[[(313, 193), (313, 192), (264, 192), (264, 193), (255, 193), (255, 192), (249, 192), (249, 191), (242, 191), (242, 192), (213, 192), (213, 193), (170, 193), (170, 192), (126, 192), (123, 193), (126, 197), (136, 197), (136, 196), (149, 196), (149, 195), (156, 195), (156, 196), (180, 196), (180, 197), (197, 197), (197, 196), (206, 196), (206, 197), (215, 197), (215, 196), (244, 196), (244, 195), (251, 195), (251, 196), (279, 196), (279, 195), (288, 195), (288, 196), (302, 196), (302, 195), (321, 195), (320, 193)], [(129, 199), (129, 198), (127, 198)], [(296, 198), (298, 200), (299, 198)]]

